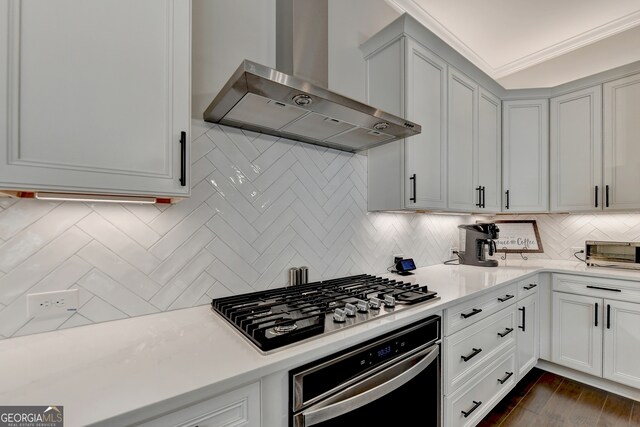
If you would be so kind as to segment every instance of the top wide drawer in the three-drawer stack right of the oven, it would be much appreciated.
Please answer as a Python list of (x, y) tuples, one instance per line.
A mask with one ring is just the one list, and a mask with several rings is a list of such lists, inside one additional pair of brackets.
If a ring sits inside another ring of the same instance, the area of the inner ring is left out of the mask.
[(451, 335), (473, 325), (516, 301), (517, 284), (513, 283), (446, 310), (444, 334)]

